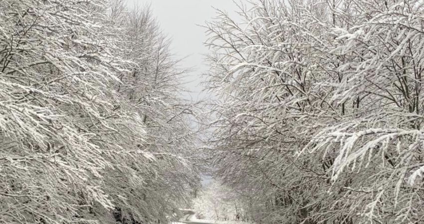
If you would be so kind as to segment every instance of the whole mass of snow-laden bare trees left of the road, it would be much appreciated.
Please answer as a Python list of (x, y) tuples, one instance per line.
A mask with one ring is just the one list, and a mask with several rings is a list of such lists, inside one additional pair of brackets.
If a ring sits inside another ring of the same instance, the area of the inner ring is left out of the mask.
[(148, 10), (0, 1), (0, 223), (166, 223), (197, 187), (191, 106)]

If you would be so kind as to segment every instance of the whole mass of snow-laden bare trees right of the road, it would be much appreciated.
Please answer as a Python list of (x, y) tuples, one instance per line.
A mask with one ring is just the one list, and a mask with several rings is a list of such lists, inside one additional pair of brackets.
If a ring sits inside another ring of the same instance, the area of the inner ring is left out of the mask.
[(422, 223), (424, 2), (252, 0), (208, 23), (217, 176), (262, 223)]

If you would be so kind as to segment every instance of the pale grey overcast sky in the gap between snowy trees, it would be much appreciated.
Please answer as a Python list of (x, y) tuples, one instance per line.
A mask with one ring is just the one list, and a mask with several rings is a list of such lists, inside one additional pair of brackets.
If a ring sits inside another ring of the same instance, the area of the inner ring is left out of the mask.
[(172, 39), (172, 53), (179, 58), (187, 57), (181, 64), (185, 68), (193, 68), (187, 75), (187, 89), (194, 93), (187, 96), (198, 100), (202, 87), (201, 75), (207, 71), (204, 56), (208, 49), (203, 45), (206, 40), (205, 29), (197, 24), (205, 24), (215, 16), (216, 7), (230, 14), (236, 10), (232, 0), (127, 0), (128, 6), (135, 3), (150, 4), (162, 30)]

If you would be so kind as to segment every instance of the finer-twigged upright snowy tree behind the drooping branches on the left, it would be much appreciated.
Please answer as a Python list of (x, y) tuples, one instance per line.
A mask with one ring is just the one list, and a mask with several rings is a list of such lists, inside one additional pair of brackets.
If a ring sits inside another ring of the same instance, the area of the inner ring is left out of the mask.
[(157, 155), (153, 165), (135, 168), (142, 185), (128, 188), (126, 180), (111, 183), (127, 189), (127, 200), (121, 205), (124, 211), (138, 214), (144, 222), (166, 222), (176, 208), (187, 206), (191, 191), (200, 182), (191, 164), (197, 134), (189, 120), (197, 108), (180, 96), (185, 70), (173, 59), (170, 41), (160, 32), (150, 9), (135, 7), (126, 12), (122, 1), (117, 1), (111, 17), (114, 24), (127, 21), (115, 30), (115, 36), (122, 39), (117, 53), (134, 63), (130, 75), (120, 77), (118, 92), (142, 117), (147, 133), (139, 147)]

